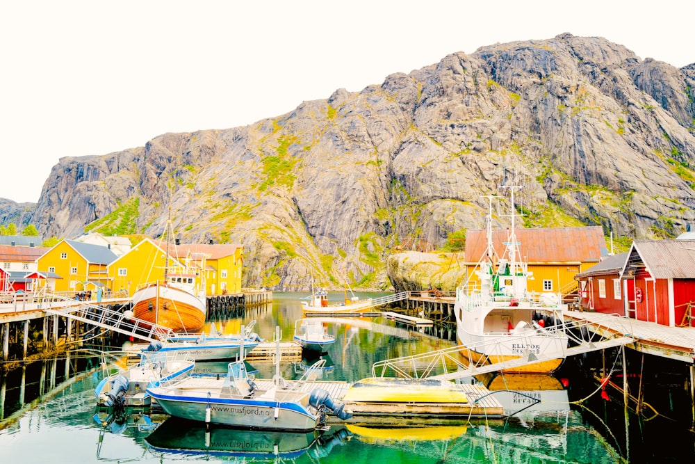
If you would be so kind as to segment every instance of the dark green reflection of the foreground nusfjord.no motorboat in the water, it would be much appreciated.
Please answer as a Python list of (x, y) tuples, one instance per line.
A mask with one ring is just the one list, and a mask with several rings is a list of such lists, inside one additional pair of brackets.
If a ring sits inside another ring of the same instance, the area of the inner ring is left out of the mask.
[(328, 456), (336, 445), (350, 439), (350, 432), (334, 427), (330, 433), (254, 431), (210, 425), (170, 417), (145, 441), (154, 451), (172, 454), (237, 458), (297, 458), (309, 452), (314, 458)]

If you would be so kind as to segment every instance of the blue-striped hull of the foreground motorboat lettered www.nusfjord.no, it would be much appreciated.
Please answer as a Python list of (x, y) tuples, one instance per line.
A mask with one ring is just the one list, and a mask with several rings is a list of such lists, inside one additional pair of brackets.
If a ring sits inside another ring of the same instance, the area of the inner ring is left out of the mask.
[[(148, 392), (167, 414), (182, 419), (245, 429), (298, 432), (312, 431), (318, 424), (318, 416), (293, 401), (225, 399), (215, 394), (208, 397), (208, 392), (183, 392), (166, 387)], [(208, 408), (209, 421), (206, 420)]]

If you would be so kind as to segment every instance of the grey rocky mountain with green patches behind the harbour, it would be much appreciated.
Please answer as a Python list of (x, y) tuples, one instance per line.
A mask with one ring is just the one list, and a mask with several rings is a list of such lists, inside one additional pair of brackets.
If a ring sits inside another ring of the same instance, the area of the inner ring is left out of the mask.
[(695, 219), (694, 87), (695, 65), (603, 38), (496, 44), (247, 127), (60, 159), (21, 217), (157, 236), (170, 209), (182, 241), (243, 243), (244, 285), (284, 290), (389, 287), (387, 255), (482, 227), (486, 195), (507, 225), (502, 186), (523, 186), (528, 227), (672, 237)]

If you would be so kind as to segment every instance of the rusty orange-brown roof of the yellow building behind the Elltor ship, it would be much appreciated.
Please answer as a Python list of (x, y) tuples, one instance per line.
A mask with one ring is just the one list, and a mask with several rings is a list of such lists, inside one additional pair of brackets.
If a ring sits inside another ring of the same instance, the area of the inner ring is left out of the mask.
[[(485, 253), (485, 234), (485, 230), (466, 232), (467, 262), (477, 262)], [(492, 231), (492, 241), (500, 257), (505, 252), (503, 242), (508, 235), (509, 230)], [(598, 262), (607, 250), (600, 226), (516, 229), (516, 239), (521, 243), (520, 260), (527, 262)]]

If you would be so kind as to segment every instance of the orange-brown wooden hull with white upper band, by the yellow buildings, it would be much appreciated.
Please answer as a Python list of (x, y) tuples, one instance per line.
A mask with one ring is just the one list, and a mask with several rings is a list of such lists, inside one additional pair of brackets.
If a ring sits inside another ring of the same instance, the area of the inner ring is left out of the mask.
[(188, 291), (150, 284), (133, 294), (133, 316), (177, 331), (196, 331), (205, 323), (206, 303)]

